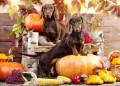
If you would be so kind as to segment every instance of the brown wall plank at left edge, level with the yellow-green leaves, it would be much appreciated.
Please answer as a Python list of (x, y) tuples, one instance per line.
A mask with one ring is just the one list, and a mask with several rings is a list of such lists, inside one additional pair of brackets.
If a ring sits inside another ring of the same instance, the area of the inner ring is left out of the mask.
[(12, 41), (9, 35), (12, 31), (12, 26), (0, 26), (0, 41)]

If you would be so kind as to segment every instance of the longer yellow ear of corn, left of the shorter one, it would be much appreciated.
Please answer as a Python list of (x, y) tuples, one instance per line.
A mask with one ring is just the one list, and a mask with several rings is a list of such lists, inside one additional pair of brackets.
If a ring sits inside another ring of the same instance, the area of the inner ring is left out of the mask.
[(37, 79), (37, 84), (40, 85), (62, 85), (63, 83), (64, 83), (63, 80), (58, 79), (43, 79), (43, 78)]

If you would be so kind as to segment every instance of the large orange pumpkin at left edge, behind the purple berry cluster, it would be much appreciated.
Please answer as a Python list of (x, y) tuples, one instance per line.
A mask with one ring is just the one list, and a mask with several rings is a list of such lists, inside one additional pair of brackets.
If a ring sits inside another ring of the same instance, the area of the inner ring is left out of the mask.
[(24, 67), (17, 62), (0, 62), (0, 81), (4, 81), (5, 77), (12, 73), (13, 69), (24, 70)]

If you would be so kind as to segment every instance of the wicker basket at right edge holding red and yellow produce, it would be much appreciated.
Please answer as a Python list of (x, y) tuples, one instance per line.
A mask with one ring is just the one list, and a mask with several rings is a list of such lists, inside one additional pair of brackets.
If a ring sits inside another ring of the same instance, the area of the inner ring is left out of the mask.
[[(111, 61), (111, 55), (113, 56), (120, 56), (120, 51), (112, 51), (109, 55), (108, 58)], [(117, 81), (120, 81), (120, 65), (111, 65), (111, 71), (115, 74)]]

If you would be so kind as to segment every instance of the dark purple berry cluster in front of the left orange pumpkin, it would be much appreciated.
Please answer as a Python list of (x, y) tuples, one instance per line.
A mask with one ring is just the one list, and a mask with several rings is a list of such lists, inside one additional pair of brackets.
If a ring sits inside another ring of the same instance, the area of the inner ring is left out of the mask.
[(12, 74), (6, 76), (5, 82), (9, 84), (24, 84), (22, 71), (14, 69)]

